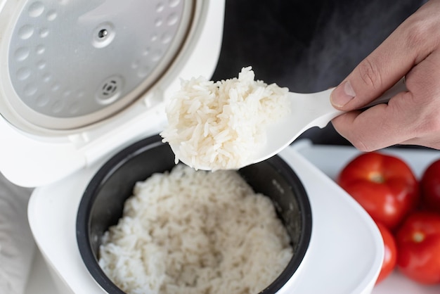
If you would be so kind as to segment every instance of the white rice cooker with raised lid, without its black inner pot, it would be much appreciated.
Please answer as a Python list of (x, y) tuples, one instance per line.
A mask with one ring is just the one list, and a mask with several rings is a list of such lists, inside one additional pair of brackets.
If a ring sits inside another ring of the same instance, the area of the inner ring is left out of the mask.
[[(30, 198), (32, 234), (59, 293), (105, 293), (76, 242), (89, 181), (159, 133), (180, 79), (210, 77), (221, 0), (0, 0), (0, 171)], [(311, 204), (304, 260), (277, 293), (370, 293), (383, 258), (373, 221), (294, 147), (279, 156)]]

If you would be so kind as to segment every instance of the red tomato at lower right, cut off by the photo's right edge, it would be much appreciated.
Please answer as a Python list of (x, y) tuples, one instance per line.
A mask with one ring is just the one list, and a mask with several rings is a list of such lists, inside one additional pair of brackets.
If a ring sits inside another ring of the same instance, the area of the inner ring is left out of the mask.
[(397, 268), (419, 283), (440, 283), (440, 215), (415, 212), (396, 233)]

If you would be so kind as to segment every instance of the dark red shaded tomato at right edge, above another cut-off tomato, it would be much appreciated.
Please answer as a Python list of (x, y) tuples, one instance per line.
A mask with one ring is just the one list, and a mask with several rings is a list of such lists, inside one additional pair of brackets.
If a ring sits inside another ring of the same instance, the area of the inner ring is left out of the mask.
[(420, 179), (422, 207), (440, 212), (440, 160), (432, 162)]

